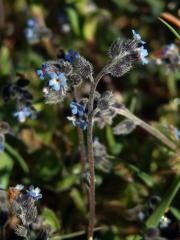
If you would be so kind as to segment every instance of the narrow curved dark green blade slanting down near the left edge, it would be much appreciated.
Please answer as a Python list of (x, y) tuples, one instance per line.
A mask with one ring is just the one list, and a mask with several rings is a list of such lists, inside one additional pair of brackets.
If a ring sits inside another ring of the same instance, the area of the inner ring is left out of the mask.
[(12, 155), (14, 157), (14, 159), (16, 159), (18, 161), (22, 170), (25, 173), (28, 173), (29, 167), (28, 167), (26, 161), (21, 157), (21, 155), (13, 147), (11, 147), (8, 143), (5, 143), (5, 149), (7, 150), (8, 153), (10, 153), (10, 155)]

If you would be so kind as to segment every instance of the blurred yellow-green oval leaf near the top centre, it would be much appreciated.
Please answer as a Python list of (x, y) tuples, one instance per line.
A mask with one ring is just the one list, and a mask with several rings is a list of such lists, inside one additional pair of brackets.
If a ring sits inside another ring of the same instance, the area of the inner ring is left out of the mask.
[(89, 16), (86, 18), (83, 26), (83, 35), (87, 41), (94, 40), (94, 35), (97, 29), (98, 19), (97, 16)]

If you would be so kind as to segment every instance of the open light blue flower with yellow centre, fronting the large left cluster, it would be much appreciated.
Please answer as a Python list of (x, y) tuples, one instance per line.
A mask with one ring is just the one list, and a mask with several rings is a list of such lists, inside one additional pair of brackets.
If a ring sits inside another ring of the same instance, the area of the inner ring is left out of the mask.
[(64, 73), (51, 73), (49, 74), (51, 79), (49, 80), (49, 86), (55, 90), (63, 90), (66, 86), (66, 77), (64, 76)]

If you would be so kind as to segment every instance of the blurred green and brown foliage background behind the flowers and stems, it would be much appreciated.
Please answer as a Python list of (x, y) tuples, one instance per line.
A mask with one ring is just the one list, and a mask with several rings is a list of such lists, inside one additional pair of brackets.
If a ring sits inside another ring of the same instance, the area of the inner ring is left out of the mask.
[[(86, 230), (87, 199), (81, 189), (77, 130), (67, 120), (70, 97), (58, 105), (43, 102), (43, 83), (36, 70), (44, 61), (55, 59), (58, 49), (75, 49), (94, 65), (95, 73), (107, 62), (107, 50), (116, 38), (140, 32), (147, 42), (150, 63), (137, 65), (128, 74), (103, 78), (98, 90), (112, 89), (118, 99), (147, 122), (180, 128), (177, 98), (178, 71), (167, 72), (166, 65), (155, 63), (155, 52), (176, 43), (173, 33), (158, 20), (163, 12), (178, 17), (178, 1), (163, 0), (51, 0), (1, 2), (0, 88), (15, 81), (20, 72), (30, 80), (37, 119), (19, 124), (12, 116), (13, 101), (0, 98), (0, 120), (10, 124), (6, 150), (0, 155), (0, 184), (33, 184), (42, 189), (39, 211), (59, 236)], [(36, 17), (51, 35), (31, 44), (25, 36), (27, 20)], [(175, 29), (176, 26), (172, 25)], [(87, 94), (86, 81), (81, 94)], [(121, 120), (114, 119), (113, 126)], [(165, 130), (164, 130), (165, 131)], [(165, 133), (176, 141), (170, 131)], [(137, 128), (128, 136), (112, 135), (111, 126), (95, 127), (95, 137), (107, 146), (112, 168), (96, 169), (97, 239), (133, 240), (142, 233), (145, 222), (138, 219), (148, 199), (163, 198), (175, 175), (180, 158), (152, 136)], [(138, 210), (129, 213), (128, 209)], [(172, 207), (178, 213), (178, 197)], [(176, 216), (175, 222), (178, 220)], [(176, 239), (167, 233), (167, 239)], [(68, 237), (68, 236), (67, 236)], [(84, 239), (84, 236), (68, 239)], [(138, 238), (137, 238), (138, 239)], [(177, 238), (178, 239), (178, 238)]]

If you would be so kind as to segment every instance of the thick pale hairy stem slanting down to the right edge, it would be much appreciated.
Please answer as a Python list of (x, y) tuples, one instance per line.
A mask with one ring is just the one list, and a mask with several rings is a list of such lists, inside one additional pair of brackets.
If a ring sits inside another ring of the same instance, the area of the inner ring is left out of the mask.
[(131, 113), (127, 108), (122, 109), (115, 109), (117, 113), (120, 115), (127, 117), (128, 119), (132, 120), (135, 124), (149, 132), (151, 135), (159, 139), (163, 142), (167, 147), (171, 148), (172, 150), (176, 150), (176, 144), (173, 143), (170, 139), (168, 139), (163, 133), (161, 133), (158, 129), (152, 127), (151, 125), (147, 124), (140, 118), (136, 117), (133, 113)]

